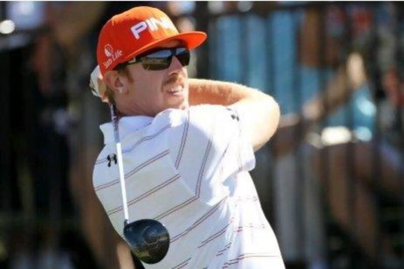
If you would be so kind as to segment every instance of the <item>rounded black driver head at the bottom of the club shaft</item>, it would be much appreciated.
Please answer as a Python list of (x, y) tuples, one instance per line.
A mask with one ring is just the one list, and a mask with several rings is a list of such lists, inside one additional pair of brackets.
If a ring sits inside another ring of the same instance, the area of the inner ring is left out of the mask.
[(133, 254), (145, 263), (157, 263), (167, 254), (170, 235), (166, 227), (156, 220), (125, 222), (123, 234)]

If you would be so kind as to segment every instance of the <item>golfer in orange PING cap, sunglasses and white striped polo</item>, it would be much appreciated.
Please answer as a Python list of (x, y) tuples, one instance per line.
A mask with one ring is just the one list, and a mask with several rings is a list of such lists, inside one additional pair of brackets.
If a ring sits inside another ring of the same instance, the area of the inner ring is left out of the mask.
[[(248, 173), (277, 128), (279, 106), (242, 85), (188, 79), (189, 50), (206, 37), (178, 33), (150, 7), (112, 17), (98, 37), (93, 90), (118, 111), (129, 221), (159, 221), (170, 235), (165, 257), (144, 266), (284, 268)], [(100, 129), (94, 190), (123, 236), (114, 127)]]

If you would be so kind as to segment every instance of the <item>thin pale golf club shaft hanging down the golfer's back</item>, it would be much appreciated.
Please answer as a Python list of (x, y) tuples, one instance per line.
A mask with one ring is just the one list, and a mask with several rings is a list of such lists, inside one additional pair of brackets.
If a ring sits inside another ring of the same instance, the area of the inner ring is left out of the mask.
[(126, 198), (125, 174), (124, 174), (124, 170), (123, 170), (123, 160), (122, 160), (122, 148), (121, 148), (121, 141), (119, 139), (119, 131), (118, 131), (119, 119), (118, 119), (118, 116), (116, 113), (116, 107), (114, 104), (110, 105), (110, 110), (111, 110), (112, 124), (114, 126), (115, 145), (117, 148), (119, 181), (121, 182), (121, 190), (122, 190), (123, 213), (125, 216), (125, 223), (127, 223), (127, 222), (129, 222), (129, 213), (128, 213), (128, 203), (127, 203), (127, 198)]

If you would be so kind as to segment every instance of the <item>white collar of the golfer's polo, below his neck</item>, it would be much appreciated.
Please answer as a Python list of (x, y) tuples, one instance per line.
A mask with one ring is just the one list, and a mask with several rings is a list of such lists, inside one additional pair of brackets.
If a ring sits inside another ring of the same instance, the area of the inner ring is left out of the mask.
[[(153, 117), (148, 116), (128, 116), (122, 117), (119, 119), (119, 138), (123, 139), (129, 133), (139, 130), (147, 125), (149, 125), (153, 121)], [(99, 126), (99, 129), (104, 134), (104, 144), (115, 142), (114, 139), (114, 126), (112, 122), (104, 123)]]

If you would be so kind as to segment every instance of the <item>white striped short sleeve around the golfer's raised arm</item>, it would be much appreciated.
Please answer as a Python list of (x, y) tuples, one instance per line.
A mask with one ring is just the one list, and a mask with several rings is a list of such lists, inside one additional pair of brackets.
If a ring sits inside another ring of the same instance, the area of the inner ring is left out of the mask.
[(202, 196), (223, 196), (218, 186), (227, 178), (254, 169), (254, 151), (236, 110), (192, 106), (177, 121), (169, 134), (173, 163), (196, 194), (206, 190), (210, 193)]

